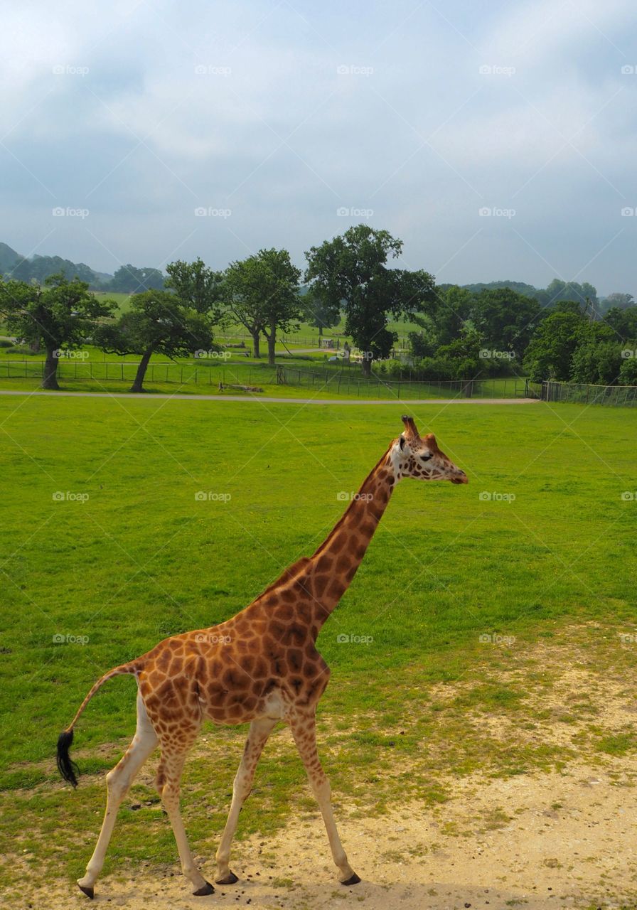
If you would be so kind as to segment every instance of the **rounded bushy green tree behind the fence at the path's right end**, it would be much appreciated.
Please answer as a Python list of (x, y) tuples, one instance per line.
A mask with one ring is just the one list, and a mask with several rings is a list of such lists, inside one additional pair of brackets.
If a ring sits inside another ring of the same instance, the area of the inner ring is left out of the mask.
[(581, 313), (551, 312), (535, 330), (526, 350), (525, 363), (531, 379), (571, 379), (571, 358), (587, 325)]

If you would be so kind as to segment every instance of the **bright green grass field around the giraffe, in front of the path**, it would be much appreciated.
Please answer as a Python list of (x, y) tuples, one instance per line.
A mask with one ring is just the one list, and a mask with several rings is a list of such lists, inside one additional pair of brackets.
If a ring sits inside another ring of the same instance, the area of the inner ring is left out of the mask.
[[(82, 873), (103, 811), (101, 773), (135, 729), (134, 683), (109, 682), (76, 730), (80, 787), (58, 781), (57, 734), (91, 684), (167, 635), (227, 619), (311, 553), (343, 511), (339, 492), (357, 490), (399, 434), (402, 410), (0, 398), (3, 854), (35, 876)], [(320, 751), (335, 803), (360, 812), (382, 813), (397, 794), (435, 804), (453, 774), (568, 762), (570, 749), (522, 739), (503, 748), (468, 723), (499, 713), (542, 723), (528, 699), (555, 668), (530, 665), (516, 684), (500, 676), (533, 642), (568, 645), (572, 628), (592, 623), (592, 663), (609, 672), (636, 663), (637, 648), (616, 642), (635, 629), (637, 415), (440, 402), (415, 417), (470, 484), (399, 486), (319, 638), (332, 668)], [(197, 501), (201, 490), (229, 499)], [(515, 643), (480, 641), (494, 634)], [(462, 696), (441, 710), (433, 693), (458, 681)], [(579, 750), (637, 745), (632, 727), (619, 744), (594, 725), (581, 735)], [(187, 765), (183, 811), (197, 854), (214, 852), (244, 736), (207, 728)], [(288, 800), (313, 811), (292, 754), (276, 734), (239, 837), (283, 824)], [(142, 808), (123, 808), (105, 874), (176, 860), (149, 780), (135, 794)], [(0, 883), (9, 894), (12, 880), (9, 870)]]

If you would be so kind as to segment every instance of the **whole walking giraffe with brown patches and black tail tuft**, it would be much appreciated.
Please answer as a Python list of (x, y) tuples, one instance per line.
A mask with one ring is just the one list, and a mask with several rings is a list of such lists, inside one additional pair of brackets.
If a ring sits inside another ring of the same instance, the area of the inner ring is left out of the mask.
[(69, 755), (74, 727), (86, 704), (114, 676), (130, 673), (137, 682), (137, 723), (132, 743), (106, 774), (106, 814), (86, 875), (77, 880), (91, 899), (104, 864), (116, 814), (136, 773), (159, 745), (156, 787), (177, 841), (183, 874), (194, 895), (210, 895), (211, 885), (197, 869), (179, 812), (179, 782), (187, 752), (204, 722), (249, 723), (232, 788), (227, 823), (216, 861), (217, 885), (238, 881), (229, 867), (238, 814), (250, 793), (259, 756), (279, 722), (288, 724), (308, 774), (343, 885), (359, 876), (348, 862), (330, 804), (330, 785), (317, 752), (315, 714), (329, 681), (329, 667), (316, 648), (323, 623), (349, 587), (385, 511), (392, 490), (405, 477), (467, 483), (467, 475), (439, 449), (435, 436), (421, 438), (414, 420), (352, 497), (341, 519), (311, 557), (302, 557), (227, 622), (174, 635), (152, 651), (106, 672), (60, 733), (57, 767), (74, 787), (77, 765)]

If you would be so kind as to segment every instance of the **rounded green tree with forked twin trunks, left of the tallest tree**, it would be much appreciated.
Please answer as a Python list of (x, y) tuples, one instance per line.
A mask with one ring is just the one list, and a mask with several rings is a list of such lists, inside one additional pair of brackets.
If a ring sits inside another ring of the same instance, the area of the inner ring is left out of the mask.
[(289, 331), (300, 319), (298, 281), (287, 249), (259, 249), (258, 253), (226, 269), (224, 288), (229, 314), (252, 336), (254, 356), (259, 357), (259, 338), (268, 339), (268, 364), (275, 364), (277, 330)]

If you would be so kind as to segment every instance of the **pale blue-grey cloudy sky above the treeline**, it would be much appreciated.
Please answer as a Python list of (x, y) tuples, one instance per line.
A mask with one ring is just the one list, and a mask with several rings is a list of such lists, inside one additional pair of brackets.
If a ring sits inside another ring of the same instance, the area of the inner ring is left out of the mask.
[(634, 0), (13, 6), (0, 240), (25, 255), (302, 266), (368, 221), (439, 281), (637, 297)]

